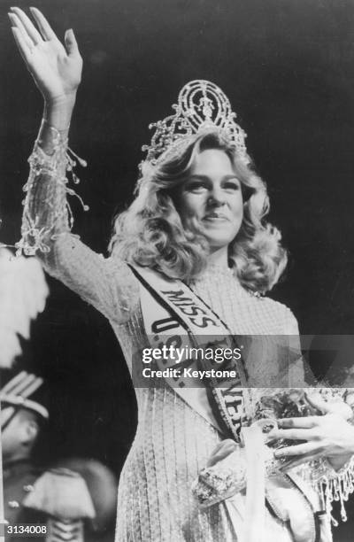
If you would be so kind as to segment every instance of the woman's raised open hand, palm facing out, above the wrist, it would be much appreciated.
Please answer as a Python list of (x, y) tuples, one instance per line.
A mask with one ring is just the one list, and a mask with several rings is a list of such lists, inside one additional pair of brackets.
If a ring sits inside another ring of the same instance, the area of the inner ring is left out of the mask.
[(64, 46), (42, 12), (30, 10), (36, 27), (19, 8), (9, 13), (19, 52), (47, 105), (74, 100), (81, 82), (82, 58), (73, 30), (66, 30)]

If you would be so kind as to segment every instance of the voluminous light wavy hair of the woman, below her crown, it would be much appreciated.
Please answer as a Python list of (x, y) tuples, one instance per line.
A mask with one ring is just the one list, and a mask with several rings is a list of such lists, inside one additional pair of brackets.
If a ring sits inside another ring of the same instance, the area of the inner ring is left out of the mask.
[(287, 252), (281, 246), (280, 231), (265, 220), (269, 212), (266, 183), (250, 158), (240, 156), (217, 131), (194, 136), (183, 150), (167, 151), (158, 166), (142, 167), (135, 200), (116, 217), (109, 249), (113, 257), (187, 283), (199, 275), (207, 264), (208, 244), (203, 235), (183, 226), (174, 202), (196, 154), (209, 149), (226, 152), (242, 186), (243, 220), (228, 246), (229, 265), (245, 288), (264, 293), (278, 282)]

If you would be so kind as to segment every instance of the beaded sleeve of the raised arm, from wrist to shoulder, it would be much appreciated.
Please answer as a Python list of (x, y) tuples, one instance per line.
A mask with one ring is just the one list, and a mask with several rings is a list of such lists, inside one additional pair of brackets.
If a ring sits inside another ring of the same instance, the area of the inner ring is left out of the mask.
[[(30, 173), (24, 186), (22, 236), (16, 244), (17, 253), (38, 254), (50, 275), (111, 321), (126, 321), (138, 298), (135, 277), (124, 262), (105, 259), (71, 233), (73, 214), (66, 195), (77, 196), (69, 185), (69, 177), (74, 184), (79, 182), (73, 173), (76, 160), (69, 155), (67, 138), (55, 128), (50, 130), (52, 152), (44, 152), (37, 139), (28, 159)], [(83, 160), (73, 156), (83, 165)]]

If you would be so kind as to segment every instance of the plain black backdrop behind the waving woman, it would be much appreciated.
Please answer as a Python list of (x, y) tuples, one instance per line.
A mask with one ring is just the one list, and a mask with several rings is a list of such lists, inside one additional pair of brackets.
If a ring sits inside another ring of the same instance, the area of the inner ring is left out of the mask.
[[(21, 185), (42, 99), (0, 3), (4, 243), (19, 239)], [(29, 2), (21, 1), (26, 8)], [(304, 334), (354, 324), (354, 3), (352, 0), (39, 0), (58, 35), (73, 27), (84, 58), (71, 144), (89, 161), (73, 202), (74, 231), (98, 252), (132, 198), (148, 124), (171, 113), (191, 79), (230, 98), (290, 261), (272, 297)], [(119, 473), (135, 431), (135, 400), (107, 321), (50, 280), (46, 311), (22, 362), (47, 376), (52, 426), (41, 461), (93, 456)], [(353, 507), (353, 504), (350, 505)], [(354, 521), (354, 509), (351, 513)], [(335, 530), (350, 540), (350, 524)], [(342, 534), (341, 534), (342, 533)]]

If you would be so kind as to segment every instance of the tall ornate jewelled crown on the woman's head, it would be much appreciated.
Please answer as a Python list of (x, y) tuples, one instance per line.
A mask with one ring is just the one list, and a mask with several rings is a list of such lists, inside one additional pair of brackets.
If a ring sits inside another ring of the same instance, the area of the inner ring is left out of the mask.
[(172, 108), (175, 110), (173, 115), (149, 125), (156, 131), (150, 145), (142, 146), (142, 151), (147, 151), (144, 162), (155, 166), (167, 152), (185, 148), (192, 136), (215, 129), (235, 146), (236, 151), (242, 155), (247, 153), (246, 133), (236, 124), (236, 113), (232, 111), (229, 99), (214, 83), (200, 79), (189, 81)]

